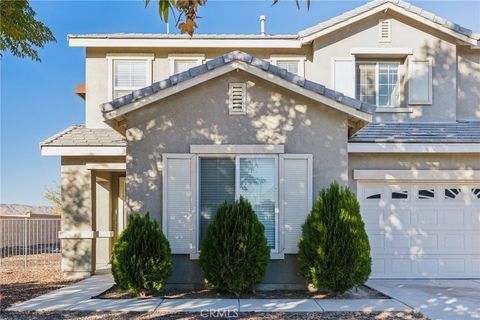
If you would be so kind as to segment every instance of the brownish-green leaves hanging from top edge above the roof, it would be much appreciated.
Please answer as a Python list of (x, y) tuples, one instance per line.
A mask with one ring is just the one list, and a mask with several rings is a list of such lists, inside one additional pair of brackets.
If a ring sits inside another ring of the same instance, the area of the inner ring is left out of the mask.
[[(150, 0), (144, 0), (145, 7), (148, 6)], [(279, 0), (273, 0), (273, 4), (277, 4)], [(300, 9), (301, 0), (295, 0), (297, 8)], [(310, 0), (305, 1), (307, 10), (310, 9)], [(181, 33), (188, 33), (192, 36), (195, 29), (198, 28), (197, 19), (198, 8), (207, 4), (207, 0), (158, 0), (158, 14), (160, 19), (168, 23), (170, 12), (175, 15), (175, 25), (180, 29)], [(178, 16), (177, 16), (178, 15)]]

